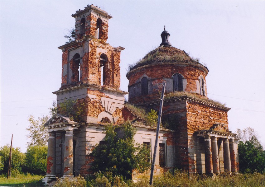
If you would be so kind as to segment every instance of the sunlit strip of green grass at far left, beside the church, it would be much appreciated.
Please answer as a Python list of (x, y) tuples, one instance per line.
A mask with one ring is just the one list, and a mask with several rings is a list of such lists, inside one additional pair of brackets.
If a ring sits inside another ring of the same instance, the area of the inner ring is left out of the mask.
[(0, 186), (44, 186), (41, 175), (18, 174), (16, 177), (0, 176)]

